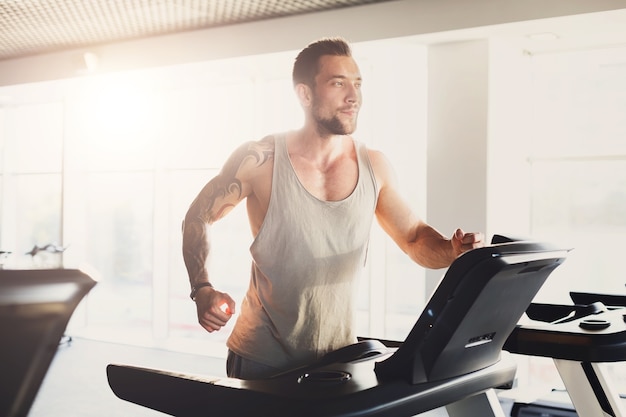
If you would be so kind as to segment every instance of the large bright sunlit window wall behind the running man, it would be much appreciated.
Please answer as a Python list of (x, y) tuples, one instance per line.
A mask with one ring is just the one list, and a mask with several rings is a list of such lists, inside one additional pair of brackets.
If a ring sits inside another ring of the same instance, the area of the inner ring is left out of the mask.
[[(415, 45), (395, 48), (401, 51), (377, 43), (355, 48), (365, 79), (356, 137), (384, 149), (399, 171), (410, 170), (404, 185), (420, 210), (425, 124), (414, 122), (425, 118), (425, 54)], [(73, 333), (219, 354), (213, 347), (223, 348), (229, 329), (209, 334), (197, 324), (181, 221), (239, 144), (301, 125), (294, 54), (3, 88), (12, 98), (0, 108), (0, 250), (13, 252), (7, 267), (60, 262), (24, 254), (34, 245), (63, 245), (66, 267), (88, 268), (99, 280), (73, 317)], [(411, 77), (404, 102), (388, 97), (398, 68)], [(419, 156), (403, 162), (407, 152)], [(239, 302), (252, 242), (245, 205), (212, 235), (219, 242), (212, 280)], [(423, 306), (423, 275), (375, 225), (359, 334), (403, 338)]]

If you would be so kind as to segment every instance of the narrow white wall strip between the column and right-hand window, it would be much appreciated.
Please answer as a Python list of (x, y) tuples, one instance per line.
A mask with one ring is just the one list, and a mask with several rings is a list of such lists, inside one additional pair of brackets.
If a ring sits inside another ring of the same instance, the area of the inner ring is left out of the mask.
[(523, 237), (530, 229), (531, 56), (497, 41), (489, 56), (486, 230)]

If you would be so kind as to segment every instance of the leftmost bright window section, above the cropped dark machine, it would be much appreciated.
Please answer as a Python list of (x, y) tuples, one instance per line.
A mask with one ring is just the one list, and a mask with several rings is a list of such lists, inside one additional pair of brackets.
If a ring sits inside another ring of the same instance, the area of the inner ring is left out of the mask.
[(13, 252), (11, 261), (20, 267), (60, 262), (49, 252), (36, 258), (26, 253), (36, 242), (56, 246), (63, 240), (63, 111), (58, 101), (2, 109), (0, 250)]

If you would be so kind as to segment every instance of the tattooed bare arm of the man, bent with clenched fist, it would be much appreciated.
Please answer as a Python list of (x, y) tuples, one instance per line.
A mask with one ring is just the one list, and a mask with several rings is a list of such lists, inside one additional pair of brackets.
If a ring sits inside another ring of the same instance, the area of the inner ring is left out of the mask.
[[(259, 204), (259, 191), (263, 194), (267, 185), (271, 186), (272, 164), (268, 161), (272, 160), (273, 149), (269, 138), (242, 145), (191, 203), (183, 222), (183, 259), (192, 287), (209, 282), (211, 225), (245, 198)], [(198, 322), (209, 332), (222, 328), (235, 312), (233, 299), (211, 286), (199, 288), (195, 301)]]

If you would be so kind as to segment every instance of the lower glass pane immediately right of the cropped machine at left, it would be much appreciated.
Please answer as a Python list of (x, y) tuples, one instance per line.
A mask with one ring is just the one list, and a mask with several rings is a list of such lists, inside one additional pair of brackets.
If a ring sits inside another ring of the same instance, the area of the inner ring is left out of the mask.
[(90, 174), (86, 184), (81, 244), (100, 276), (89, 295), (89, 325), (109, 326), (113, 335), (132, 329), (134, 336), (150, 337), (152, 175)]

